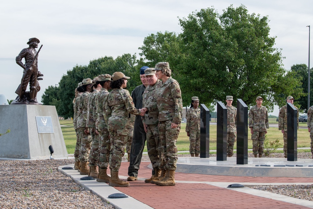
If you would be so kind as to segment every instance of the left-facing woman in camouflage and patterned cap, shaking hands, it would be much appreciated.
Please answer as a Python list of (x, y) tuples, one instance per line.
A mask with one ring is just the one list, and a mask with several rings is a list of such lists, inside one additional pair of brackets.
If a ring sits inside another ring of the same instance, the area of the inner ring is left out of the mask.
[(182, 94), (179, 83), (171, 77), (168, 62), (157, 63), (155, 70), (162, 84), (153, 101), (148, 107), (142, 108), (142, 112), (159, 110), (159, 136), (166, 165), (161, 167), (161, 176), (151, 180), (151, 183), (174, 186), (178, 159), (176, 142), (182, 122)]

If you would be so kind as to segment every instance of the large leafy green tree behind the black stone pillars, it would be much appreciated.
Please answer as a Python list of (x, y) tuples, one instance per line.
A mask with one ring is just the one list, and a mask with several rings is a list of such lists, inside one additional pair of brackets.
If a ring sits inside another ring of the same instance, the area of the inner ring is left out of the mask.
[[(201, 9), (179, 19), (182, 33), (146, 37), (139, 48), (151, 62), (170, 62), (180, 83), (184, 106), (192, 96), (201, 103), (225, 101), (227, 95), (248, 106), (257, 96), (272, 110), (285, 94), (301, 96), (299, 77), (282, 66), (281, 51), (269, 36), (268, 17), (249, 13), (244, 5), (223, 10)], [(163, 46), (165, 45), (165, 46)], [(176, 54), (175, 54), (176, 53)], [(176, 56), (175, 56), (176, 55)], [(292, 82), (291, 82), (292, 81)]]

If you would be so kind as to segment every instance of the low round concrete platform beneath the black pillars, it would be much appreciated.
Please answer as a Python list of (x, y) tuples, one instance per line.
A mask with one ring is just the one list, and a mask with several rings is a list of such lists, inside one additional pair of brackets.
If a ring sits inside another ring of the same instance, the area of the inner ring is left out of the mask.
[(228, 157), (227, 161), (217, 161), (216, 157), (179, 157), (176, 172), (259, 177), (313, 177), (313, 160), (286, 158), (248, 158), (245, 165), (237, 164), (237, 159)]

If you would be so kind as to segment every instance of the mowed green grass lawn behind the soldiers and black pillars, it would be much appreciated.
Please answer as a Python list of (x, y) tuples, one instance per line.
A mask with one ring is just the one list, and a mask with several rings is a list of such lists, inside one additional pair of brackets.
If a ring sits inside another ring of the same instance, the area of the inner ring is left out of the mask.
[[(67, 153), (74, 154), (74, 149), (76, 145), (76, 133), (73, 126), (72, 120), (60, 120), (61, 125), (65, 125), (68, 127), (61, 127)], [(306, 126), (306, 123), (301, 124), (300, 126)], [(189, 153), (189, 137), (187, 137), (187, 133), (185, 132), (186, 123), (182, 123), (182, 128), (179, 133), (177, 139), (177, 149), (178, 151), (187, 151)], [(310, 133), (307, 129), (299, 129), (298, 130), (298, 147), (310, 147)], [(280, 148), (283, 148), (283, 134), (278, 128), (269, 128), (267, 132), (267, 138), (269, 141), (275, 141), (276, 139), (280, 140), (282, 144)], [(216, 125), (210, 125), (210, 150), (216, 149)], [(234, 145), (234, 149), (237, 149), (236, 143)], [(248, 149), (252, 149), (252, 140), (250, 129), (248, 129)], [(299, 152), (300, 150), (298, 150)], [(303, 150), (301, 150), (303, 151)], [(307, 150), (310, 152), (310, 150)], [(147, 148), (145, 147), (144, 152), (147, 152)], [(277, 151), (279, 152), (279, 151)]]

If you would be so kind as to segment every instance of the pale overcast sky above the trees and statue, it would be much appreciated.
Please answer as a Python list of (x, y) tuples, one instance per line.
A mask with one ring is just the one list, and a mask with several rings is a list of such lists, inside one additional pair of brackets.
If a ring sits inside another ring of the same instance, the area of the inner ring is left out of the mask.
[[(234, 7), (244, 4), (249, 13), (268, 16), (270, 36), (277, 36), (275, 47), (282, 49), (286, 69), (294, 64), (308, 64), (309, 28), (306, 26), (313, 20), (313, 1), (309, 0), (2, 1), (0, 94), (9, 100), (17, 96), (14, 92), (23, 70), (15, 63), (15, 57), (28, 47), (29, 38), (36, 37), (40, 40), (39, 46), (44, 45), (38, 56), (38, 68), (44, 74), (37, 95), (40, 101), (45, 88), (58, 84), (61, 76), (74, 65), (88, 65), (90, 60), (106, 55), (116, 58), (136, 53), (139, 57), (138, 47), (149, 34), (182, 32), (178, 17), (212, 6), (221, 14), (231, 4)], [(278, 115), (276, 109), (274, 114)]]

